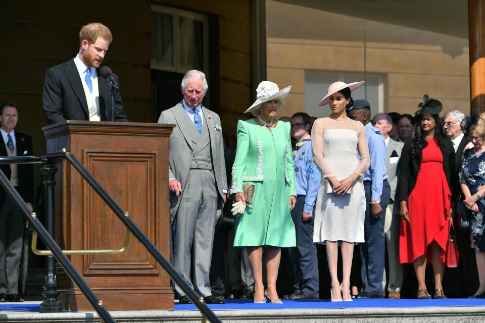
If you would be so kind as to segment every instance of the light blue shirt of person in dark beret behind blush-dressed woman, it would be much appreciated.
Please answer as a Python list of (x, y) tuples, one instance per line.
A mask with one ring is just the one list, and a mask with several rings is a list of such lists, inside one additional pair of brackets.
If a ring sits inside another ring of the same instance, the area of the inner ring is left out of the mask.
[(370, 167), (364, 175), (364, 181), (372, 181), (371, 204), (380, 201), (382, 195), (382, 182), (387, 179), (385, 173), (385, 141), (379, 129), (368, 123), (364, 126), (367, 133), (367, 143), (370, 153)]

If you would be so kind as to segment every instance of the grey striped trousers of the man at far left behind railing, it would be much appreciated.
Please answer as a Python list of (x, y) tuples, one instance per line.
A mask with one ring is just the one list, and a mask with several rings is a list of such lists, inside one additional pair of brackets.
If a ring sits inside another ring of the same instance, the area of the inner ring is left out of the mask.
[(0, 293), (19, 293), (23, 233), (22, 212), (12, 199), (6, 196), (0, 209)]

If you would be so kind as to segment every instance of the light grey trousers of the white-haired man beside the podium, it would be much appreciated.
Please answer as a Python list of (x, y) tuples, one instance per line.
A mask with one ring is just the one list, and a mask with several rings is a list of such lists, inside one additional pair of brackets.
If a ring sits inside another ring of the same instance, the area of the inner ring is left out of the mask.
[[(173, 263), (190, 287), (206, 297), (211, 295), (209, 272), (218, 198), (214, 173), (191, 169), (182, 189), (180, 205), (172, 224)], [(193, 284), (190, 282), (191, 268)], [(179, 297), (185, 295), (177, 285), (175, 291)]]

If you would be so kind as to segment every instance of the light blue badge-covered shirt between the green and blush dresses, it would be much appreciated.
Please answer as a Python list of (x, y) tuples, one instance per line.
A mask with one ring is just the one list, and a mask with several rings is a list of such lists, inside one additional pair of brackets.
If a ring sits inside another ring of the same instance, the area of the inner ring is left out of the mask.
[(306, 195), (303, 211), (313, 214), (313, 206), (317, 199), (322, 175), (313, 161), (311, 141), (298, 149), (297, 154), (293, 157), (293, 163), (295, 164), (297, 195)]

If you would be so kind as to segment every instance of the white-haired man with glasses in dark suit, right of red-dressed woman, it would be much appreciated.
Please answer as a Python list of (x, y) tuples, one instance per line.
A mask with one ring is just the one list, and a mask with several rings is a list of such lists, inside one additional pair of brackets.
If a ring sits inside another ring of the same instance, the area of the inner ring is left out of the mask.
[[(455, 176), (461, 166), (461, 156), (463, 151), (472, 148), (473, 144), (463, 134), (461, 122), (465, 119), (465, 114), (458, 110), (448, 111), (443, 116), (443, 128), (445, 134), (451, 139), (455, 148)], [(463, 200), (463, 198), (462, 198)], [(450, 297), (466, 297), (473, 295), (476, 290), (478, 273), (476, 271), (475, 252), (470, 248), (470, 232), (468, 228), (462, 228), (459, 221), (460, 216), (454, 217), (455, 228), (457, 231), (457, 246), (460, 253), (458, 267), (445, 268), (444, 288)]]

